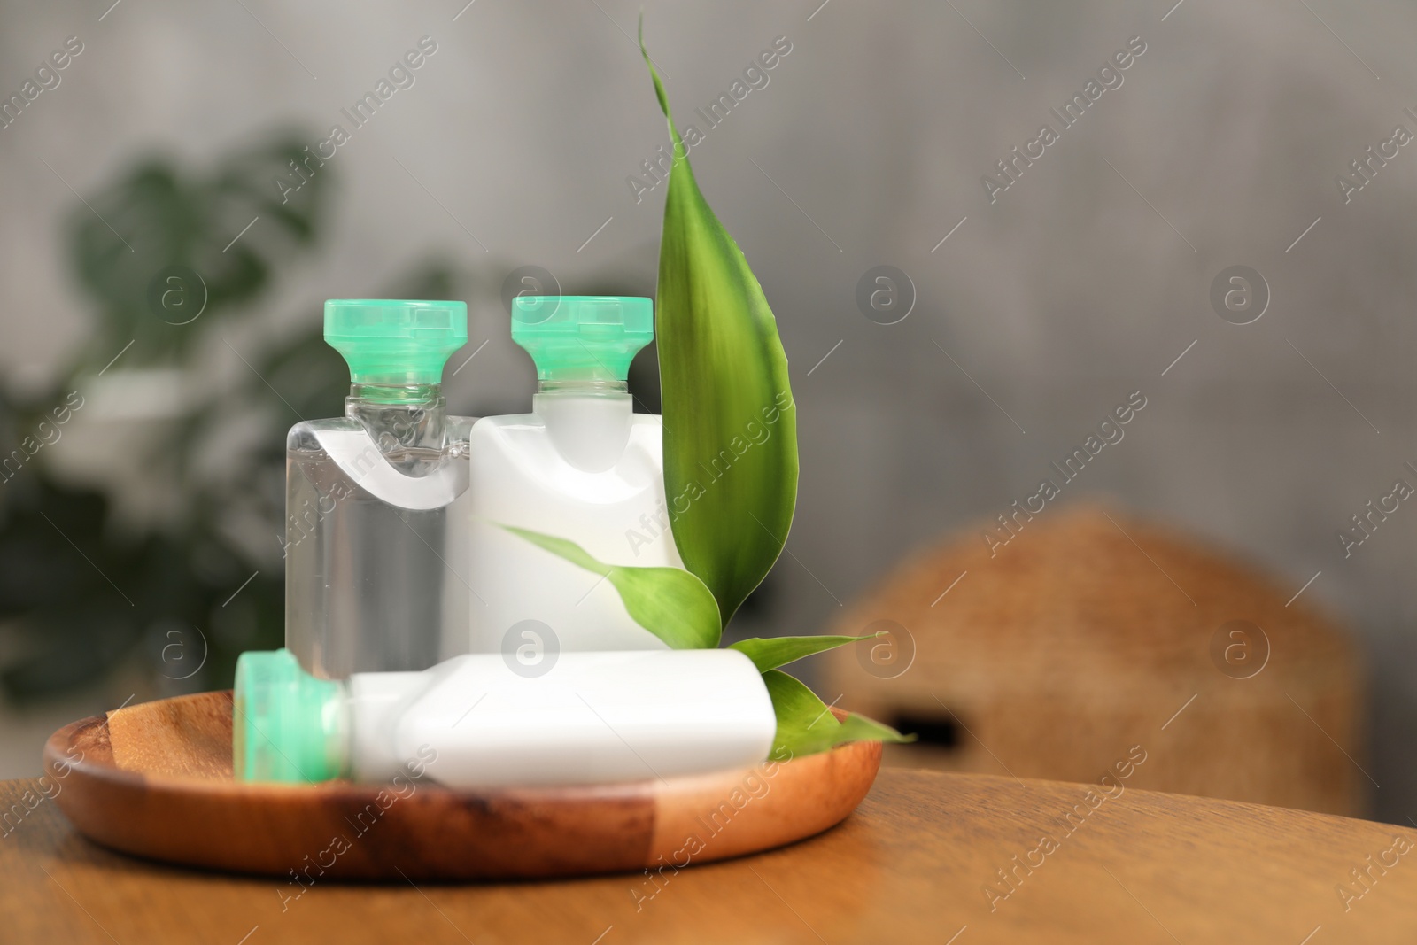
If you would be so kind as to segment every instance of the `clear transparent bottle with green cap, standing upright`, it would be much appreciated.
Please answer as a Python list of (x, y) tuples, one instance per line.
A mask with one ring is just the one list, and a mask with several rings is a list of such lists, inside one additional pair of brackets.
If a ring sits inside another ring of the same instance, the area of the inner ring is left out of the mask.
[(422, 670), (468, 650), (468, 434), (444, 364), (462, 302), (332, 299), (344, 417), (286, 438), (285, 639), (307, 672)]

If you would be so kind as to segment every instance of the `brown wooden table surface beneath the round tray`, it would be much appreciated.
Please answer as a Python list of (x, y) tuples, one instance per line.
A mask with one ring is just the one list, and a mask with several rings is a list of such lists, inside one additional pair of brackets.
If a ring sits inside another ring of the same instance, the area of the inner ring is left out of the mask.
[[(34, 786), (0, 782), (0, 808)], [(48, 800), (4, 829), (4, 942), (1417, 941), (1417, 829), (1125, 785), (1104, 798), (886, 769), (835, 830), (657, 883), (316, 884), (299, 898), (279, 880), (109, 853)]]

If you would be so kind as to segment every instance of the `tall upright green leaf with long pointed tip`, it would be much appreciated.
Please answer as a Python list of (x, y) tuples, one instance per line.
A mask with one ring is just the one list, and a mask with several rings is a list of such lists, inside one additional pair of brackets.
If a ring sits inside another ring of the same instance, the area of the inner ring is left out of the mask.
[(643, 20), (640, 52), (674, 143), (655, 306), (665, 492), (679, 555), (713, 591), (727, 625), (792, 527), (796, 407), (772, 310), (699, 191), (645, 50)]

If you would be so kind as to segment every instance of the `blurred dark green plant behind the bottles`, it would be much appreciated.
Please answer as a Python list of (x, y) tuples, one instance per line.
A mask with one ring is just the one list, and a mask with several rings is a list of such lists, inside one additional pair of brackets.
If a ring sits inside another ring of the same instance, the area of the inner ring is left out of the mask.
[[(241, 650), (281, 645), (285, 431), (340, 415), (349, 374), (317, 312), (293, 334), (245, 341), (247, 351), (227, 332), (259, 336), (256, 303), (269, 305), (279, 275), (326, 232), (329, 170), (288, 201), (271, 186), (303, 157), (300, 140), (272, 136), (210, 174), (146, 160), (75, 205), (68, 255), (94, 329), (47, 390), (0, 384), (0, 686), (10, 696), (74, 689), (125, 663), (159, 694), (211, 689), (230, 684)], [(455, 298), (453, 282), (431, 264), (390, 298)], [(231, 380), (214, 368), (214, 356), (230, 360), (224, 347), (244, 361)], [(156, 438), (123, 446), (139, 455), (112, 458), (170, 494), (170, 514), (135, 520), (118, 490), (77, 482), (41, 445), (69, 392), (81, 402), (74, 417), (106, 424), (85, 411), (115, 407), (103, 405), (115, 381), (154, 368), (193, 383)]]

